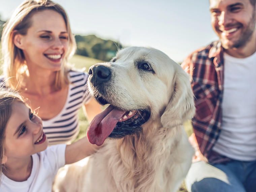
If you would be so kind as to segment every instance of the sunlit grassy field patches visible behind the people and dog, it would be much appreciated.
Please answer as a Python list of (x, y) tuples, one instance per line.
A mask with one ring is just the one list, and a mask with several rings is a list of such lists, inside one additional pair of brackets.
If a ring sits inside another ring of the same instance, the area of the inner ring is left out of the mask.
[[(1, 47), (0, 47), (1, 48)], [(1, 55), (0, 55), (1, 58)], [(75, 55), (71, 60), (70, 63), (73, 64), (73, 66), (77, 69), (84, 69), (85, 71), (88, 71), (89, 67), (92, 66), (93, 64), (99, 63), (101, 62), (100, 60), (97, 59), (92, 59), (92, 58), (88, 58), (88, 57), (84, 57), (84, 56), (79, 56), (79, 55)], [(0, 63), (1, 65), (1, 63)], [(2, 73), (2, 70), (0, 68), (0, 74)], [(79, 111), (79, 127), (80, 127), (80, 132), (76, 138), (82, 138), (86, 135), (86, 129), (88, 127), (89, 123), (86, 119), (86, 117), (83, 114), (83, 110), (80, 109)], [(192, 127), (191, 127), (191, 123), (185, 122), (184, 124), (186, 132), (188, 135), (190, 135), (192, 133)], [(180, 188), (179, 192), (187, 192), (186, 187), (183, 183), (182, 187)]]

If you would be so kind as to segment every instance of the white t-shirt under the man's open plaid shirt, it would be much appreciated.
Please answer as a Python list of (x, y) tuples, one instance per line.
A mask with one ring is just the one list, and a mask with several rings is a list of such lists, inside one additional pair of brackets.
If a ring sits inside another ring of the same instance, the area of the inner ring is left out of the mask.
[(256, 52), (224, 54), (222, 130), (213, 150), (231, 159), (256, 160)]

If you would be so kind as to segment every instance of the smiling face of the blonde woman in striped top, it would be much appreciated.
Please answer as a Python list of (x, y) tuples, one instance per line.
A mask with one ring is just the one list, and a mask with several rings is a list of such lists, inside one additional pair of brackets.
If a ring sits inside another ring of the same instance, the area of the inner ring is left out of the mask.
[(14, 37), (15, 45), (24, 52), (29, 71), (60, 70), (69, 43), (62, 15), (54, 10), (38, 11), (31, 22), (26, 35)]

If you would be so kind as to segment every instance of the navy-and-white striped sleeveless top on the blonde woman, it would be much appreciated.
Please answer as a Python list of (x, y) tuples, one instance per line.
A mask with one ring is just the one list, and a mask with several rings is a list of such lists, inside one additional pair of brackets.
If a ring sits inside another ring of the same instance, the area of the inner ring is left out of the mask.
[[(79, 133), (78, 110), (91, 98), (87, 91), (88, 74), (69, 71), (68, 77), (68, 96), (62, 110), (52, 119), (42, 121), (49, 145), (70, 143), (76, 138)], [(0, 83), (1, 80), (3, 78)]]

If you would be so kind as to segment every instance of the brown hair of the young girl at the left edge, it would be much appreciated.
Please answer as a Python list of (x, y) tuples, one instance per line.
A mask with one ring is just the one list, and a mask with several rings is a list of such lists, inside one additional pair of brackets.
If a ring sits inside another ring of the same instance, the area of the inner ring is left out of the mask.
[(1, 173), (4, 171), (4, 164), (2, 164), (2, 161), (4, 157), (5, 128), (12, 113), (12, 103), (14, 101), (25, 103), (19, 94), (3, 90), (1, 87), (2, 86), (0, 85), (0, 178)]

